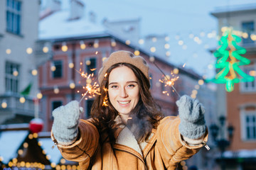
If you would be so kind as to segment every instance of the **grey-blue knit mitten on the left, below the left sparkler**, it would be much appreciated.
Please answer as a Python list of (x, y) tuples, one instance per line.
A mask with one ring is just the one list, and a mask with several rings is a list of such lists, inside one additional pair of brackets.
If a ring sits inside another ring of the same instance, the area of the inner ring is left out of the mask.
[(80, 113), (78, 101), (70, 101), (65, 106), (55, 108), (53, 111), (53, 128), (52, 132), (60, 145), (71, 145), (78, 136), (78, 123)]

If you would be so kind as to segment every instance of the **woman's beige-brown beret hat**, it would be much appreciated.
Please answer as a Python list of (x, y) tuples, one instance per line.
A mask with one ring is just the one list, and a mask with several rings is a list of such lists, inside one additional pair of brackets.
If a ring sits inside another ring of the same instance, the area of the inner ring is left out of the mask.
[(98, 74), (98, 81), (100, 84), (102, 83), (107, 69), (117, 63), (129, 63), (134, 65), (135, 67), (140, 69), (145, 75), (146, 79), (149, 80), (149, 65), (146, 64), (144, 58), (139, 55), (134, 55), (132, 52), (121, 50), (112, 52), (110, 57), (103, 61), (102, 68), (100, 69)]

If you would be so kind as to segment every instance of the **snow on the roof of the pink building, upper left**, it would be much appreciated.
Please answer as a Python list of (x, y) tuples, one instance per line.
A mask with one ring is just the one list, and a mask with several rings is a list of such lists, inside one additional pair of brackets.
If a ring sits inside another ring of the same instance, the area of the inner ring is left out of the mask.
[(41, 20), (39, 23), (39, 39), (75, 38), (105, 33), (103, 26), (91, 23), (85, 17), (68, 20), (69, 14), (68, 10), (56, 11)]

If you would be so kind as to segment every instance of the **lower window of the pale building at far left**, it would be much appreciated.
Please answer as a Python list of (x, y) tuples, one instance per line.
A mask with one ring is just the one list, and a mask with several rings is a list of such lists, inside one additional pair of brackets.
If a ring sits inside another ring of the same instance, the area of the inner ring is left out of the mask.
[(18, 93), (19, 65), (6, 62), (5, 88), (7, 93)]

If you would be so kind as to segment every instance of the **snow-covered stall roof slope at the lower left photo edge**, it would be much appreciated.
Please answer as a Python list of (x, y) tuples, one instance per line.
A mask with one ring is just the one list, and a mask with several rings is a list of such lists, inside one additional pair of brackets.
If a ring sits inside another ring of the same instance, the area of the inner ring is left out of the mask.
[(15, 158), (17, 149), (28, 135), (28, 130), (2, 131), (0, 133), (0, 157), (4, 164)]

